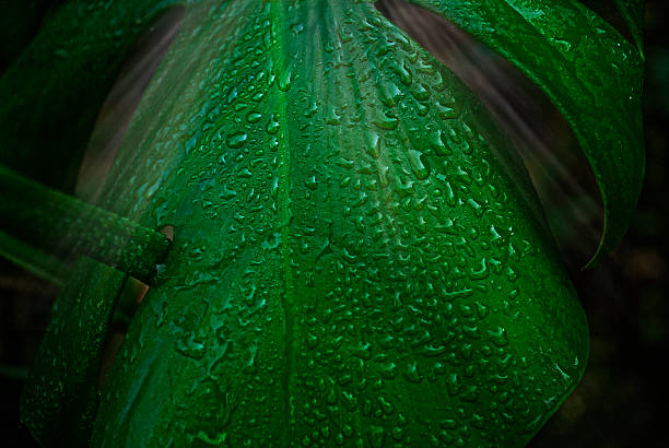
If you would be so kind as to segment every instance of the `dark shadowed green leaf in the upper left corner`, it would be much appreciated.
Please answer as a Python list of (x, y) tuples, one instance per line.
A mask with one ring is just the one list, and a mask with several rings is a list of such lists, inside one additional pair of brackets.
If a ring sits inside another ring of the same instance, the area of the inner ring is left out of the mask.
[(0, 78), (0, 163), (66, 192), (129, 49), (176, 1), (107, 3), (66, 2)]

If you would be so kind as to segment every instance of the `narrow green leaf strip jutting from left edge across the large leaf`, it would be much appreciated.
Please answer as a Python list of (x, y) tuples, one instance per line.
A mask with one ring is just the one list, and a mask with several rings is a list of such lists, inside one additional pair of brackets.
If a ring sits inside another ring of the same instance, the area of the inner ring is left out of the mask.
[[(169, 249), (163, 234), (48, 189), (2, 165), (0, 228), (42, 251), (66, 259), (72, 254), (87, 255), (145, 282), (155, 275)], [(14, 259), (37, 257), (30, 247), (9, 239), (4, 243), (3, 251)], [(55, 273), (55, 267), (49, 269), (49, 261), (43, 261), (47, 272)]]

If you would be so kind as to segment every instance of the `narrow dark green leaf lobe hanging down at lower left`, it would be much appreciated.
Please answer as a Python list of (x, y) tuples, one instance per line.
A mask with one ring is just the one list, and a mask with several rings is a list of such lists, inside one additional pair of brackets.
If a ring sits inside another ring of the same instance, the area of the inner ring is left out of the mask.
[(21, 392), (21, 420), (43, 446), (89, 446), (104, 342), (125, 280), (83, 257), (56, 299)]

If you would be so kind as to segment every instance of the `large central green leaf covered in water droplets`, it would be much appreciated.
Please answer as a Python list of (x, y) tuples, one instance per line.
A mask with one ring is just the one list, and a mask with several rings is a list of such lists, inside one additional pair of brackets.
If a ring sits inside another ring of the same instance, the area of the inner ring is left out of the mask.
[(365, 2), (183, 28), (107, 192), (175, 235), (96, 439), (527, 440), (582, 372), (583, 316), (476, 97)]

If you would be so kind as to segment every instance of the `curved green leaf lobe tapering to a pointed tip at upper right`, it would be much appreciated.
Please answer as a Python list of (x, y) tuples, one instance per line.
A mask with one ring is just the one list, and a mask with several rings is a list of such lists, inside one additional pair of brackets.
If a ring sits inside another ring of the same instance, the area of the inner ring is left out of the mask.
[[(409, 1), (481, 39), (562, 111), (590, 162), (603, 201), (602, 236), (588, 263), (594, 266), (624, 235), (641, 193), (645, 153), (638, 50), (576, 1)], [(631, 3), (639, 4), (624, 2), (626, 19), (637, 11)], [(638, 33), (634, 36), (639, 38)]]

